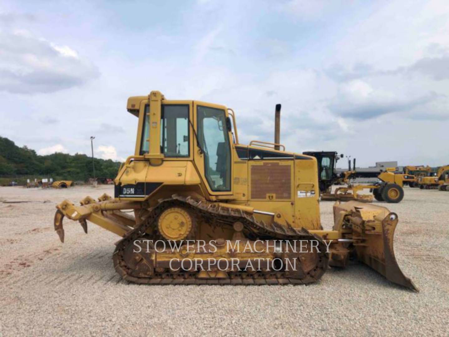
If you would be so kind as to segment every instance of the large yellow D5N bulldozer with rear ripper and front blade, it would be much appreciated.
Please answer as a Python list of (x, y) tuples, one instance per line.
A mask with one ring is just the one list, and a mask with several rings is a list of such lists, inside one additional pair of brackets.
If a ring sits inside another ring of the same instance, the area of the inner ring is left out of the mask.
[[(115, 270), (139, 284), (310, 284), (354, 257), (417, 291), (394, 256), (396, 213), (336, 202), (334, 226), (323, 229), (317, 160), (279, 144), (280, 105), (277, 142), (249, 145), (239, 142), (235, 114), (223, 105), (152, 91), (129, 98), (127, 108), (138, 118), (136, 146), (114, 180), (114, 198), (58, 204), (62, 242), (63, 217), (86, 233), (92, 222), (119, 235)], [(201, 244), (192, 249), (192, 242)], [(297, 242), (301, 249), (288, 248)], [(235, 249), (239, 243), (257, 249)], [(271, 264), (255, 267), (256, 259)], [(195, 264), (183, 266), (186, 260)]]

